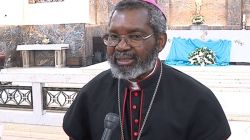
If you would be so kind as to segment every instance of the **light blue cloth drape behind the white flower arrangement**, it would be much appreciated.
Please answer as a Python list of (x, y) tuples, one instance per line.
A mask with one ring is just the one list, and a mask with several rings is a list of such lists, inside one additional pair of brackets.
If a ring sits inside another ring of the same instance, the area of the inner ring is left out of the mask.
[(192, 65), (188, 61), (188, 56), (195, 49), (206, 47), (212, 50), (215, 55), (215, 61), (218, 66), (228, 65), (230, 62), (230, 50), (232, 43), (230, 40), (208, 40), (173, 38), (170, 52), (166, 64), (169, 65)]

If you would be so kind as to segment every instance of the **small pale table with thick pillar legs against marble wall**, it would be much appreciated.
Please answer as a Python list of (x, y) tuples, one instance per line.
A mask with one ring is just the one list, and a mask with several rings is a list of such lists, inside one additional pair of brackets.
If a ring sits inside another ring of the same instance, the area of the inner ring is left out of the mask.
[(55, 51), (55, 67), (60, 68), (66, 65), (66, 49), (69, 44), (18, 45), (16, 50), (21, 51), (23, 67), (34, 65), (34, 51)]

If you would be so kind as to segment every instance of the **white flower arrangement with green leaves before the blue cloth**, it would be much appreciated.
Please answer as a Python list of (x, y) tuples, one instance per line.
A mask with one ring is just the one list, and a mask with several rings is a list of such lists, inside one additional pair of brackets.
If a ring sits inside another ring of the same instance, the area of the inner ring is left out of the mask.
[(192, 65), (215, 64), (215, 53), (206, 47), (197, 48), (189, 54), (188, 60)]

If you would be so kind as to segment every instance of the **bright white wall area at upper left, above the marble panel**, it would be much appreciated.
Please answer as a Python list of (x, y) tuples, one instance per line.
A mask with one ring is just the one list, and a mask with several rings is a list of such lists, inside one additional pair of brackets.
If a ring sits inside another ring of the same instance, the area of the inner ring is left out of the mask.
[(29, 4), (28, 0), (0, 0), (0, 25), (64, 23), (89, 23), (89, 0), (36, 4)]

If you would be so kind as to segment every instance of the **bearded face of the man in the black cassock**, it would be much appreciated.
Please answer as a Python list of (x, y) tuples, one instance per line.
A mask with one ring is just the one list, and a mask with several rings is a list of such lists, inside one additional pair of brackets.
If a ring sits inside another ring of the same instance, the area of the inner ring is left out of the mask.
[[(116, 46), (107, 47), (108, 61), (115, 77), (123, 79), (143, 78), (156, 62), (158, 50), (152, 28), (148, 25), (146, 9), (115, 11), (112, 16), (109, 34), (122, 39)], [(144, 39), (133, 43), (132, 36)], [(151, 36), (150, 36), (151, 35)]]

